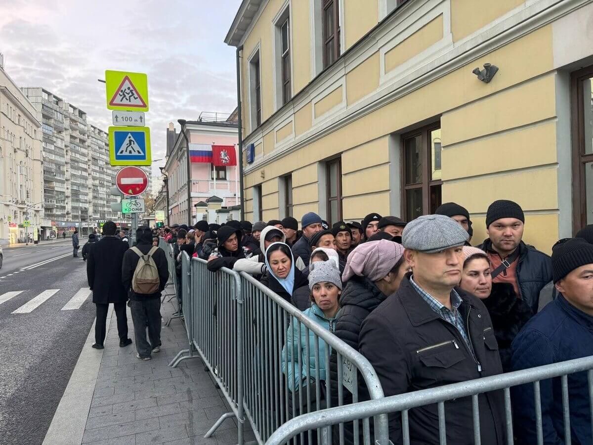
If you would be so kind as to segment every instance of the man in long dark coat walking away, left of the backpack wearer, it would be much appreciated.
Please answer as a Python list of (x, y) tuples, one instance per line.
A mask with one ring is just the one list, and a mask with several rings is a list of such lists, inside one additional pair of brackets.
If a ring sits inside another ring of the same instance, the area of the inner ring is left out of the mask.
[(132, 344), (132, 340), (127, 338), (127, 292), (122, 284), (123, 255), (129, 247), (116, 236), (116, 230), (117, 226), (113, 221), (103, 224), (103, 237), (90, 249), (87, 260), (88, 287), (93, 291), (93, 303), (97, 306), (93, 344), (95, 349), (104, 347), (110, 303), (113, 303), (117, 317), (120, 347)]

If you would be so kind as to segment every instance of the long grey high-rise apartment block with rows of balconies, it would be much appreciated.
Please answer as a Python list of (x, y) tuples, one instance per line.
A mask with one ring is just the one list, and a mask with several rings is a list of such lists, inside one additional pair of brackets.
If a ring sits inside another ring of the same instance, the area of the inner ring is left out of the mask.
[[(88, 234), (106, 220), (116, 169), (109, 164), (107, 133), (87, 113), (41, 87), (21, 88), (42, 122), (44, 217), (42, 238)], [(53, 232), (53, 234), (52, 234)]]

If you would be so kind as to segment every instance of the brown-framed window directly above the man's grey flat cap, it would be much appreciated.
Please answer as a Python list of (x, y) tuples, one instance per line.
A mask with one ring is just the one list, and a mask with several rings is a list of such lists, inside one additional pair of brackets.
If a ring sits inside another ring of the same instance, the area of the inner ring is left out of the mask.
[(441, 205), (441, 125), (402, 136), (403, 214), (406, 221), (432, 214)]

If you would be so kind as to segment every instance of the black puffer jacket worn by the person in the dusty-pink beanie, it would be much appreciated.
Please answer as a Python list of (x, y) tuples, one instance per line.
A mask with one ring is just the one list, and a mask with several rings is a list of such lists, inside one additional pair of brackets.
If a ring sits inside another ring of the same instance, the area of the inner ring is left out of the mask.
[[(358, 351), (358, 335), (361, 332), (361, 325), (365, 318), (374, 311), (387, 295), (382, 293), (374, 282), (363, 276), (355, 275), (346, 284), (340, 297), (340, 310), (336, 314), (334, 334), (344, 341), (348, 346)], [(331, 406), (338, 405), (338, 379), (337, 379), (337, 355), (332, 351), (330, 355), (330, 377), (331, 377)], [(368, 390), (364, 379), (358, 379), (358, 401), (368, 400)], [(343, 404), (352, 403), (352, 394), (343, 390)], [(362, 431), (360, 442), (362, 443)], [(335, 443), (339, 443), (339, 435), (334, 434)], [(344, 424), (344, 443), (354, 443), (352, 423)]]

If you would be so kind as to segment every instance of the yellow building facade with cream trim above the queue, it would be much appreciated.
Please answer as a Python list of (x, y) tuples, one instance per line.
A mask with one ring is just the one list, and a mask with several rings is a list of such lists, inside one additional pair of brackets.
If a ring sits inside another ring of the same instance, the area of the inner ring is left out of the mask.
[(246, 218), (454, 201), (476, 243), (512, 199), (550, 252), (593, 223), (592, 17), (590, 0), (244, 0), (226, 42)]

